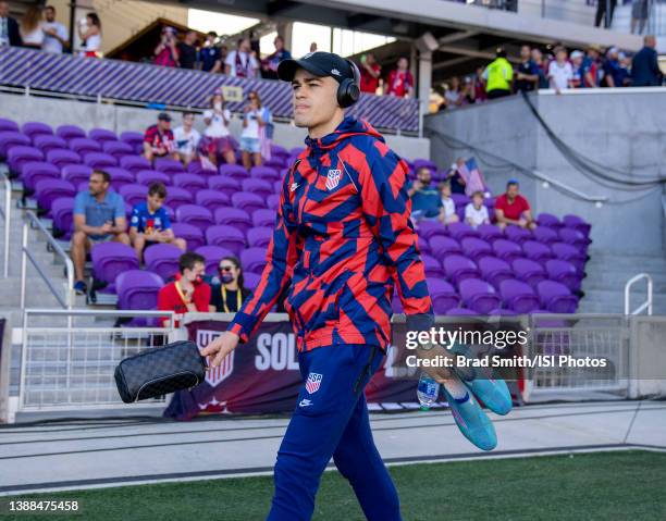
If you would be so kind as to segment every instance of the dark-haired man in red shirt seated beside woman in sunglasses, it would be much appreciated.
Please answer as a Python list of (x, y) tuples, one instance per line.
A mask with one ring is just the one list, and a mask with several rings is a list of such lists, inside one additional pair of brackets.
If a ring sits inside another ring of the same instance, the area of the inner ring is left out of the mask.
[[(176, 314), (187, 312), (214, 311), (210, 306), (210, 286), (201, 278), (206, 272), (206, 259), (188, 251), (178, 259), (178, 273), (175, 281), (166, 284), (158, 294), (158, 310), (174, 311)], [(176, 327), (180, 321), (176, 322)], [(168, 319), (162, 319), (166, 326)]]

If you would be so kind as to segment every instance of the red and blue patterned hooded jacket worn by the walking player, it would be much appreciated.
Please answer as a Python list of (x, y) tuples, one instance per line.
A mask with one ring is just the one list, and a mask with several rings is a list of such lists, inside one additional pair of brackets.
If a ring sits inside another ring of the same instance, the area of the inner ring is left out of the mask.
[(432, 319), (407, 163), (351, 117), (306, 145), (283, 182), (261, 281), (227, 330), (247, 342), (288, 286), (299, 351), (335, 344), (385, 350), (394, 282), (408, 322)]

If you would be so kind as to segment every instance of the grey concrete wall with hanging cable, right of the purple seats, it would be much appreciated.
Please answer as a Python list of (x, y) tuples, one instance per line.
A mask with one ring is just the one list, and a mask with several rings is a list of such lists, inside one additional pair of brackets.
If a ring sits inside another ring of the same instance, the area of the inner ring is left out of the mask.
[[(551, 128), (576, 151), (602, 165), (627, 172), (629, 178), (666, 177), (666, 89), (603, 89), (564, 96), (542, 92), (532, 100)], [(593, 247), (609, 252), (659, 253), (664, 247), (662, 188), (649, 191), (612, 189), (575, 170), (555, 148), (520, 97), (473, 106), (427, 117), (428, 129), (440, 129), (461, 141), (614, 203), (596, 208), (511, 169), (481, 163), (493, 193), (508, 177), (518, 177), (536, 213), (575, 213), (591, 222)], [(446, 165), (468, 150), (452, 150), (432, 138), (433, 159)], [(478, 158), (479, 159), (479, 158)], [(492, 163), (492, 161), (491, 161)], [(622, 202), (628, 199), (641, 199)]]

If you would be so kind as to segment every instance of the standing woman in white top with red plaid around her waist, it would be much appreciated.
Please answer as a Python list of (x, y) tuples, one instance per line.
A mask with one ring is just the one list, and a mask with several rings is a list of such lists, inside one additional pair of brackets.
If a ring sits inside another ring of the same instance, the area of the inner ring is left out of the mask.
[(224, 95), (217, 88), (210, 98), (210, 109), (203, 112), (206, 129), (199, 145), (199, 152), (207, 158), (213, 166), (218, 166), (222, 159), (235, 164), (234, 142), (229, 132), (231, 112), (225, 108)]

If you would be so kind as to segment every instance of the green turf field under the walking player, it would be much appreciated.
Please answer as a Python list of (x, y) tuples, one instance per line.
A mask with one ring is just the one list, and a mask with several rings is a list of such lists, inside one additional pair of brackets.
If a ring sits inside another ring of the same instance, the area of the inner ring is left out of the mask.
[[(666, 519), (666, 454), (594, 452), (392, 467), (404, 519), (659, 520)], [(270, 476), (164, 483), (21, 496), (76, 498), (78, 520), (261, 521)], [(47, 516), (50, 518), (50, 516)], [(0, 516), (1, 519), (8, 519)], [(45, 516), (20, 516), (44, 520)], [(58, 516), (55, 519), (67, 519)], [(337, 472), (326, 472), (314, 520), (365, 519)]]

